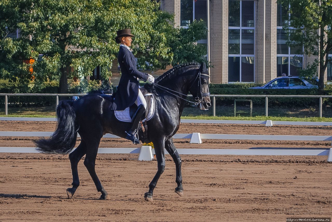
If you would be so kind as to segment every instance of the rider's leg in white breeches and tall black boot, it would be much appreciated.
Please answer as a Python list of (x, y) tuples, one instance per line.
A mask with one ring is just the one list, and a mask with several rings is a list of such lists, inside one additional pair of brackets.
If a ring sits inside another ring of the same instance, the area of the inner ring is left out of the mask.
[(131, 140), (134, 144), (140, 144), (140, 141), (136, 137), (136, 134), (137, 134), (138, 123), (141, 120), (142, 116), (144, 115), (146, 108), (146, 101), (140, 90), (138, 90), (138, 97), (135, 103), (138, 105), (138, 108), (134, 116), (132, 117), (130, 130), (126, 131), (127, 133), (126, 139)]

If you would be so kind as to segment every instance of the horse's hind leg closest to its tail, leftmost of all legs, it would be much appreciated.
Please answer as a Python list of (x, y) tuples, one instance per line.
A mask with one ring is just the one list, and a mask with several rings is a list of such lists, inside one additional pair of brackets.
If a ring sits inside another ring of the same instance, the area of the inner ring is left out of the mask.
[(71, 173), (73, 175), (73, 185), (72, 188), (67, 189), (67, 195), (70, 199), (75, 194), (75, 191), (77, 190), (78, 186), (80, 185), (80, 180), (78, 178), (78, 171), (77, 171), (77, 165), (78, 162), (82, 159), (82, 157), (86, 153), (86, 144), (83, 140), (81, 140), (81, 143), (78, 145), (78, 147), (69, 154), (70, 159), (70, 165), (71, 165)]

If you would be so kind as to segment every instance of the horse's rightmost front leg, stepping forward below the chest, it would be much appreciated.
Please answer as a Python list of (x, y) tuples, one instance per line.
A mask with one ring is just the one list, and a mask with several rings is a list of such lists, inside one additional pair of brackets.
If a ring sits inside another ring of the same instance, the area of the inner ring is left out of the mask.
[(175, 188), (175, 193), (179, 194), (180, 196), (183, 196), (182, 175), (181, 175), (182, 162), (181, 162), (181, 157), (175, 148), (172, 138), (167, 139), (165, 141), (165, 149), (171, 155), (171, 157), (173, 158), (174, 163), (175, 163), (175, 169), (176, 169), (175, 182), (178, 184), (177, 188)]

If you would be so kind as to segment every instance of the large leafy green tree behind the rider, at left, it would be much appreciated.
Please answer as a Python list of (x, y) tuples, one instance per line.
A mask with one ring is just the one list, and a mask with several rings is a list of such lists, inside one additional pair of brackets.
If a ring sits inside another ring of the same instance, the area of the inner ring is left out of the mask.
[[(206, 52), (195, 44), (206, 32), (202, 23), (173, 28), (173, 15), (158, 9), (151, 0), (2, 0), (0, 77), (29, 79), (22, 60), (30, 58), (36, 81), (59, 80), (59, 93), (67, 92), (68, 77), (89, 76), (98, 65), (109, 77), (119, 51), (114, 38), (122, 28), (135, 35), (132, 48), (141, 66), (202, 60)], [(21, 37), (6, 38), (8, 28), (19, 28)]]

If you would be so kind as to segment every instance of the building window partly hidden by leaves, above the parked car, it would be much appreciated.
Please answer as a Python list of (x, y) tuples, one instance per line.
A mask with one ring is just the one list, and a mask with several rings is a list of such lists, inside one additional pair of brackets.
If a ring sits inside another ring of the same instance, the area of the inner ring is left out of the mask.
[(278, 4), (277, 8), (277, 77), (298, 76), (303, 69), (303, 46), (288, 47), (284, 25), (289, 24), (288, 9)]

